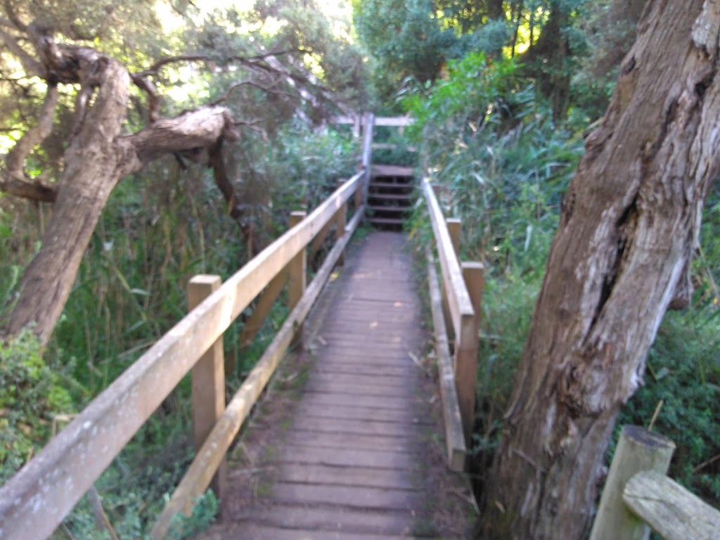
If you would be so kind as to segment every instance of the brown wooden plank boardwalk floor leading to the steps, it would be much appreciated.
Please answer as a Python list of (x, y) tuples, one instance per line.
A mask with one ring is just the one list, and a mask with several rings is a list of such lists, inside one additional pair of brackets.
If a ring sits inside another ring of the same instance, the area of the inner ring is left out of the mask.
[(293, 410), (274, 415), (278, 440), (251, 464), (271, 473), (254, 483), (231, 473), (252, 496), (224, 503), (222, 526), (202, 538), (436, 537), (425, 450), (433, 427), (416, 364), (427, 343), (404, 242), (372, 233), (328, 285), (305, 332)]

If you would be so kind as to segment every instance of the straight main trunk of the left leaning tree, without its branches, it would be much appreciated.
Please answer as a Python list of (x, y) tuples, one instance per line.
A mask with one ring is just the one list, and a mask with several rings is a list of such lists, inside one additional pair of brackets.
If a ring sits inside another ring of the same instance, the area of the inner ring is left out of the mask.
[(66, 150), (53, 217), (40, 252), (22, 276), (10, 334), (33, 324), (40, 341), (48, 341), (100, 212), (117, 183), (115, 140), (125, 122), (130, 76), (119, 62), (109, 60), (98, 83), (96, 100)]

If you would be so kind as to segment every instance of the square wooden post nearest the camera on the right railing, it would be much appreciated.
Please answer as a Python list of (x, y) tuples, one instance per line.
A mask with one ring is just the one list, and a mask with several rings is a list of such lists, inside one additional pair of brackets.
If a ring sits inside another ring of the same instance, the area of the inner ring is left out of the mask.
[(482, 263), (463, 263), (462, 276), (470, 295), (474, 315), (463, 317), (461, 335), (455, 350), (455, 386), (457, 388), (465, 443), (472, 449), (472, 424), (475, 412), (475, 384), (477, 384), (478, 329), (484, 274)]

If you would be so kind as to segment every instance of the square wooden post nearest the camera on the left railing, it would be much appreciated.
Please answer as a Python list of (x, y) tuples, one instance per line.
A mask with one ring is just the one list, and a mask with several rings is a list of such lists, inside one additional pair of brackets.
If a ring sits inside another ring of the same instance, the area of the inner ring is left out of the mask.
[[(220, 276), (194, 276), (187, 284), (189, 310), (199, 305), (210, 294), (220, 289)], [(192, 431), (195, 450), (205, 442), (215, 423), (225, 412), (225, 361), (222, 353), (222, 336), (210, 346), (192, 368)], [(210, 486), (218, 499), (225, 493), (227, 464), (222, 460)]]

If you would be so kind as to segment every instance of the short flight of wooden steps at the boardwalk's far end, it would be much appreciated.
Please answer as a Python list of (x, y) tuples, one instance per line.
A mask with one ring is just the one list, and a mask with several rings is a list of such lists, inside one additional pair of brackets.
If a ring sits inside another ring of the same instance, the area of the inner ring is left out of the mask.
[(412, 167), (373, 165), (367, 195), (370, 223), (382, 230), (402, 230), (414, 190)]

